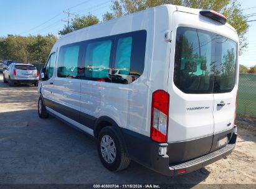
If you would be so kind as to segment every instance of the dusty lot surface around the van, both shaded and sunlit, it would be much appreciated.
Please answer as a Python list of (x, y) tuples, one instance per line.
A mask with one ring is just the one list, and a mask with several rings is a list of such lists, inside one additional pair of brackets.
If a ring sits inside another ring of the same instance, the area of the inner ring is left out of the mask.
[(232, 155), (187, 175), (165, 177), (135, 162), (115, 173), (100, 163), (87, 134), (52, 117), (39, 119), (37, 99), (36, 87), (9, 87), (0, 76), (0, 184), (256, 183), (254, 129), (240, 127)]

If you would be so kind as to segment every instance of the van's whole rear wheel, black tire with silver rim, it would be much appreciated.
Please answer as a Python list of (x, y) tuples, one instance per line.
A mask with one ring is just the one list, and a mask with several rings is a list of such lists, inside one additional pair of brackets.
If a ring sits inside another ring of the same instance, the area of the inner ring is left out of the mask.
[(113, 126), (103, 127), (97, 141), (98, 155), (102, 164), (111, 171), (120, 171), (128, 167), (128, 156), (123, 140)]

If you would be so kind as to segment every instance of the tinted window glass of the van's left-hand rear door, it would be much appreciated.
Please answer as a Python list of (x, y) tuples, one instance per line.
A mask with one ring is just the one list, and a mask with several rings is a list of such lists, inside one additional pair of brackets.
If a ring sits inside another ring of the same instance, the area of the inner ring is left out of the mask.
[(174, 84), (185, 93), (212, 93), (211, 62), (215, 35), (179, 27), (176, 37)]

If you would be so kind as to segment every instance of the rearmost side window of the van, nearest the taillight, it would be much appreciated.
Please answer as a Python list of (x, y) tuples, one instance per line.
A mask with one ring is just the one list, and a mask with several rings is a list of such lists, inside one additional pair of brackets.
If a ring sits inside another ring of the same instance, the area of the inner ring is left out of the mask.
[(141, 76), (145, 66), (146, 31), (117, 35), (112, 82), (129, 84)]

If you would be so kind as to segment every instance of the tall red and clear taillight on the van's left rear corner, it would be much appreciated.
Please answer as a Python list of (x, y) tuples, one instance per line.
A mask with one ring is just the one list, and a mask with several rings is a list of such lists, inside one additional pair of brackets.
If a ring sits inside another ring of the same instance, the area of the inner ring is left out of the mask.
[(169, 94), (166, 91), (154, 91), (151, 107), (151, 131), (153, 141), (167, 142), (169, 118)]

